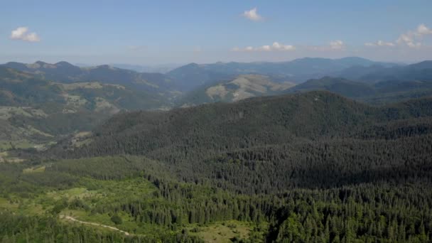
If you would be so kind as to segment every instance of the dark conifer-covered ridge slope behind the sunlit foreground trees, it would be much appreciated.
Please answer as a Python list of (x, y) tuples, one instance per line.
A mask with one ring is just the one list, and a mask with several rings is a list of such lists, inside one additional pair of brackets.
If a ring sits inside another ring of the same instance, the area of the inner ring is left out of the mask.
[[(329, 92), (306, 92), (121, 114), (95, 129), (85, 146), (63, 144), (50, 152), (144, 155), (166, 163), (187, 181), (212, 178), (224, 188), (249, 193), (344, 185), (375, 180), (382, 173), (392, 178), (394, 171), (387, 169), (393, 166), (406, 173), (420, 166), (416, 163), (430, 154), (431, 116), (430, 98), (369, 107)], [(390, 155), (392, 162), (378, 163)], [(408, 166), (408, 158), (415, 166)], [(332, 169), (326, 168), (330, 164)]]

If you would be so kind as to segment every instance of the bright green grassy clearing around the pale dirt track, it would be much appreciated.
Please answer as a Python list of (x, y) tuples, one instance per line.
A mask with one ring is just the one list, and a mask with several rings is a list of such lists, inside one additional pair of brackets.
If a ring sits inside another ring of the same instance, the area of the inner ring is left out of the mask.
[[(40, 173), (43, 175), (45, 166), (24, 168), (22, 176), (31, 173)], [(33, 176), (33, 175), (32, 175)], [(143, 205), (152, 205), (156, 203), (170, 203), (165, 199), (155, 195), (156, 187), (148, 180), (143, 178), (130, 178), (124, 180), (96, 180), (93, 178), (81, 178), (75, 188), (65, 190), (53, 190), (47, 188), (34, 195), (21, 196), (21, 194), (10, 193), (11, 198), (0, 198), (0, 211), (6, 210), (22, 215), (60, 215), (71, 216), (82, 222), (91, 222), (99, 225), (88, 225), (72, 220), (61, 219), (65, 224), (77, 224), (82, 227), (95, 227), (100, 230), (112, 231), (102, 225), (116, 227), (130, 234), (153, 235), (153, 234), (178, 234), (183, 229), (187, 229), (190, 234), (194, 234), (205, 240), (205, 242), (230, 242), (230, 239), (247, 239), (249, 234), (254, 230), (253, 224), (249, 222), (238, 222), (235, 220), (226, 222), (217, 222), (210, 225), (198, 226), (179, 225), (176, 228), (169, 228), (163, 225), (155, 225), (140, 222), (126, 212), (115, 212), (121, 217), (121, 224), (116, 225), (111, 218), (113, 211), (100, 210), (124, 202), (124, 198), (130, 200), (141, 200)], [(202, 190), (197, 193), (196, 197), (205, 197), (209, 193)], [(80, 201), (81, 204), (76, 204)], [(56, 207), (63, 205), (65, 207), (56, 210)], [(148, 203), (148, 204), (147, 204)], [(75, 205), (75, 206), (71, 206)], [(77, 206), (76, 206), (77, 205)], [(101, 207), (102, 206), (102, 207)], [(170, 204), (170, 208), (175, 210), (176, 205)], [(99, 208), (99, 210), (97, 210)], [(96, 210), (95, 210), (96, 209)]]

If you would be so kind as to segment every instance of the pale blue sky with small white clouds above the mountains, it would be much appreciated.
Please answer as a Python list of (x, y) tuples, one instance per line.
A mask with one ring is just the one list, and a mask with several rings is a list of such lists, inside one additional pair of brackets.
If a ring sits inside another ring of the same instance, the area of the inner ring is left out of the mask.
[(432, 59), (432, 1), (3, 0), (0, 63)]

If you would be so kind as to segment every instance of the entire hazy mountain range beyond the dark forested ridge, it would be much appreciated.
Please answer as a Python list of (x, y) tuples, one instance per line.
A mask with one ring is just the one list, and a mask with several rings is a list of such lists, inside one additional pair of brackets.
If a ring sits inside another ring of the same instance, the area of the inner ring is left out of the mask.
[[(432, 95), (431, 73), (431, 61), (396, 65), (363, 58), (191, 63), (166, 74), (109, 65), (80, 68), (66, 62), (11, 62), (0, 65), (0, 144), (4, 149), (40, 146), (58, 136), (89, 131), (120, 111), (237, 102), (313, 90), (369, 104), (400, 102)], [(307, 75), (314, 78), (301, 82)]]

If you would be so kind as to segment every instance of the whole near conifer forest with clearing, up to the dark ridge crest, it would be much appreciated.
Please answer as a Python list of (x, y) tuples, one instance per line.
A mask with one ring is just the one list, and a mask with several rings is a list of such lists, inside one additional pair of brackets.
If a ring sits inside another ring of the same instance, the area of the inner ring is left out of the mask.
[(0, 239), (431, 242), (431, 132), (430, 98), (322, 91), (120, 113), (8, 151)]

